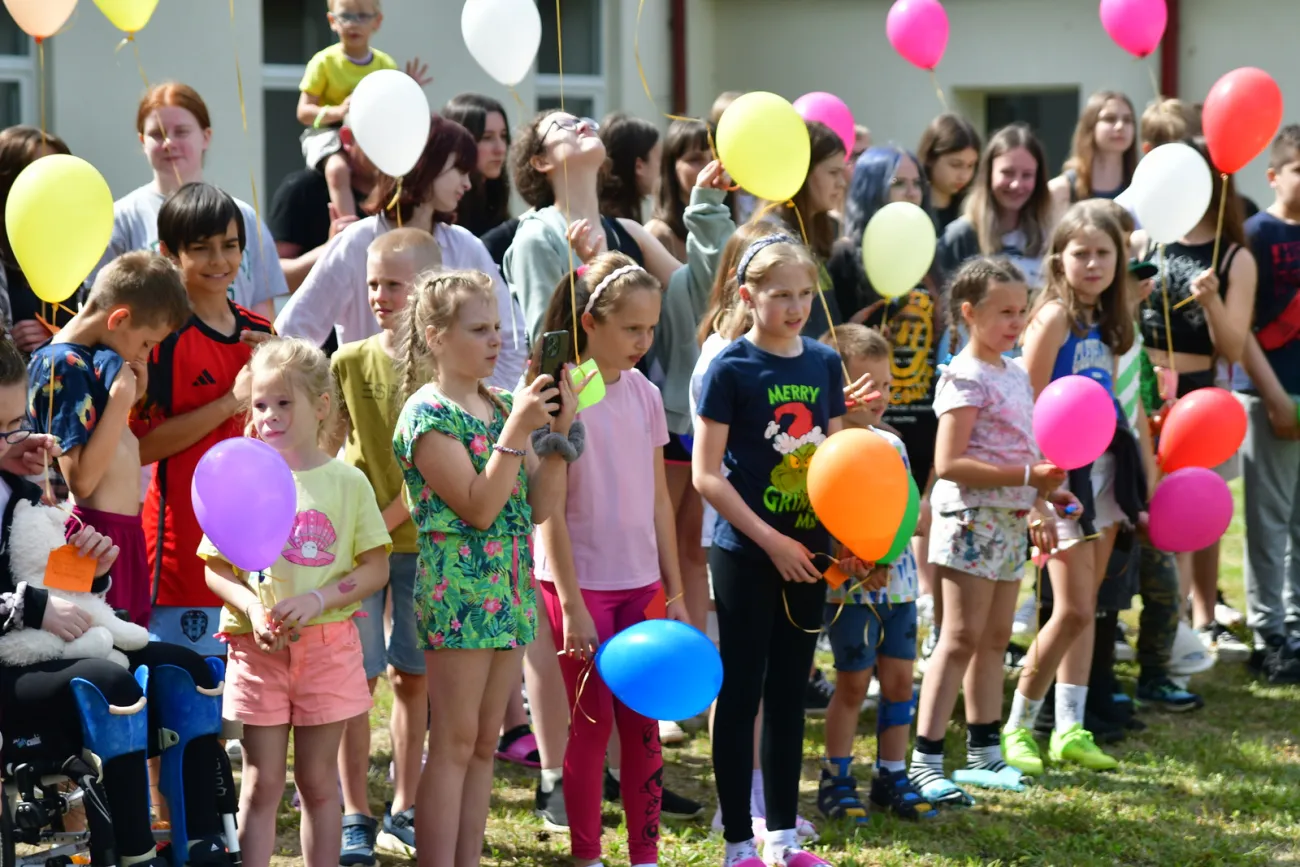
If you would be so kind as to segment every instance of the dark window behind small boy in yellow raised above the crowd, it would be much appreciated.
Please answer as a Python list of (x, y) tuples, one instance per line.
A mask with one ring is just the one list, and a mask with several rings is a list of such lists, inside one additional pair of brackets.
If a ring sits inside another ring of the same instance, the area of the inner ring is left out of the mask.
[(274, 0), (261, 4), (263, 29), (263, 159), (268, 201), (280, 182), (303, 168), (298, 143), (298, 84), (307, 61), (329, 47), (335, 36), (325, 19), (321, 0)]

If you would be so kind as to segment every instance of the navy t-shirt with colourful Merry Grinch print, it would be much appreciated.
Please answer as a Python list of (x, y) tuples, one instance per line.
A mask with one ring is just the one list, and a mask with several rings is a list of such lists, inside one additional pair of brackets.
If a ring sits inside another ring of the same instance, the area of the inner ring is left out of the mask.
[[(844, 415), (840, 356), (807, 337), (793, 357), (772, 355), (748, 338), (718, 354), (705, 373), (699, 415), (729, 425), (724, 463), (729, 481), (754, 513), (812, 552), (829, 536), (812, 513), (807, 467)], [(762, 554), (758, 543), (718, 517), (714, 545)]]

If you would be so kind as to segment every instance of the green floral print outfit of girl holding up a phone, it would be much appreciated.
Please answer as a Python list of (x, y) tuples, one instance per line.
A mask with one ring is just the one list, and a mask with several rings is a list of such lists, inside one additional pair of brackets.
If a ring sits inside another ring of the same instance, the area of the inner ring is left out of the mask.
[[(510, 393), (491, 389), (507, 411)], [(415, 465), (420, 437), (460, 441), (474, 472), (484, 472), (506, 417), (498, 409), (484, 424), (425, 385), (406, 402), (393, 434), (393, 451), (406, 481), (406, 499), (419, 533), (415, 612), (424, 650), (508, 650), (537, 634), (533, 588), (533, 512), (523, 463), (506, 507), (488, 530), (464, 523), (425, 482)]]

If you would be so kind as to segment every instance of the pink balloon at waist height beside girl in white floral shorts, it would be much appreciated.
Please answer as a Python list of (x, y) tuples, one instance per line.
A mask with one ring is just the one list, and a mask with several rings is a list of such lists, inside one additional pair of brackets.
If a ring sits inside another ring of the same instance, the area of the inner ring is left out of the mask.
[(1115, 403), (1104, 385), (1086, 376), (1053, 381), (1034, 404), (1034, 438), (1061, 469), (1087, 467), (1114, 435)]

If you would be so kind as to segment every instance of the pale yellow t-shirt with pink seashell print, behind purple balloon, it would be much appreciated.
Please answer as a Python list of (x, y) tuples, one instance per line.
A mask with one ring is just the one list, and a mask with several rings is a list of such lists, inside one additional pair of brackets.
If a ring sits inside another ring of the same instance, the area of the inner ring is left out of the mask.
[[(277, 602), (342, 580), (356, 568), (358, 556), (365, 551), (390, 547), (389, 533), (374, 504), (374, 491), (361, 471), (332, 459), (315, 469), (294, 473), (294, 484), (298, 515), (280, 559), (265, 572), (250, 575), (235, 569), (266, 611)], [(229, 563), (207, 536), (199, 543), (199, 556)], [(311, 624), (344, 621), (360, 607), (354, 603), (330, 608)], [(221, 610), (221, 630), (247, 633), (252, 632), (252, 625), (242, 611), (226, 606)]]

